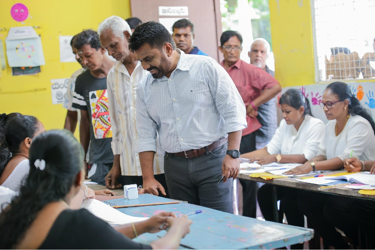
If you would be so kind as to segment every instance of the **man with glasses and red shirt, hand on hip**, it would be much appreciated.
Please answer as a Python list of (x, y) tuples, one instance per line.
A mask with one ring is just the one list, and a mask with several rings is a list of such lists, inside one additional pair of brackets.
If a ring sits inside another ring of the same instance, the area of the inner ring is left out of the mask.
[[(281, 86), (269, 73), (240, 60), (242, 35), (239, 32), (233, 30), (223, 32), (219, 50), (224, 56), (220, 64), (231, 76), (246, 106), (248, 127), (242, 130), (240, 153), (248, 153), (255, 150), (255, 132), (261, 127), (257, 120), (258, 106), (275, 97), (281, 91)], [(257, 183), (239, 180), (243, 187), (243, 216), (255, 218)]]

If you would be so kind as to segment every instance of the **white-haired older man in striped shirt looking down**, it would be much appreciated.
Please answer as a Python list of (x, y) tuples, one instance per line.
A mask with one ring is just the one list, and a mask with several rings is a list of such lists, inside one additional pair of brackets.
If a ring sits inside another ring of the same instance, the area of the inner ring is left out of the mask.
[[(138, 82), (148, 72), (142, 68), (136, 55), (129, 51), (129, 38), (132, 31), (124, 19), (119, 16), (105, 19), (99, 24), (98, 34), (102, 47), (107, 49), (108, 55), (117, 61), (107, 76), (114, 159), (113, 167), (105, 177), (105, 183), (110, 189), (121, 187), (121, 184), (138, 186), (143, 180), (138, 153), (135, 152), (137, 138), (135, 101)], [(159, 140), (156, 139), (156, 142), (154, 177), (165, 187), (165, 192), (161, 194), (169, 197), (163, 171), (163, 154)]]

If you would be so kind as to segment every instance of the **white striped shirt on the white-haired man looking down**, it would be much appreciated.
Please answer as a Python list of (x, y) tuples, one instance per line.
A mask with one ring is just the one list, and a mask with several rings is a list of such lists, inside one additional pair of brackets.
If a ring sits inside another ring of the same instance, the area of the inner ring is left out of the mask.
[[(118, 61), (107, 76), (108, 104), (112, 124), (113, 154), (120, 154), (122, 175), (141, 176), (141, 164), (135, 152), (137, 130), (135, 124), (135, 101), (138, 82), (147, 74), (138, 62), (132, 75), (127, 72), (122, 61)], [(156, 143), (154, 174), (163, 174), (163, 153)]]

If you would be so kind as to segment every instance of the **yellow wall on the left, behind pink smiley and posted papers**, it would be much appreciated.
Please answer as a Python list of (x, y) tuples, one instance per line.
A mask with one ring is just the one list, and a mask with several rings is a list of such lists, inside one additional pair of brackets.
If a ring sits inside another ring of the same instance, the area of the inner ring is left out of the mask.
[[(23, 3), (29, 16), (24, 23), (10, 16), (10, 8)], [(61, 129), (66, 109), (62, 104), (52, 105), (51, 79), (69, 78), (80, 68), (77, 62), (61, 63), (59, 36), (74, 35), (83, 29), (96, 30), (99, 23), (111, 15), (130, 17), (129, 0), (0, 0), (0, 28), (40, 26), (45, 58), (41, 72), (31, 76), (12, 76), (7, 65), (0, 78), (0, 113), (20, 112), (39, 118), (46, 129)], [(5, 49), (7, 31), (0, 31)], [(5, 52), (5, 51), (4, 51)]]

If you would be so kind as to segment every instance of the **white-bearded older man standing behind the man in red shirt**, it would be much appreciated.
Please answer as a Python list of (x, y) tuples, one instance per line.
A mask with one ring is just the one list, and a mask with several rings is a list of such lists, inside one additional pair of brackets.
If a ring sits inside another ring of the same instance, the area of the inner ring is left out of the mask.
[[(250, 57), (251, 64), (275, 77), (275, 72), (270, 70), (270, 68), (266, 65), (269, 53), (270, 44), (267, 42), (267, 40), (257, 38), (252, 42), (248, 55)], [(255, 132), (255, 147), (257, 149), (261, 149), (266, 147), (278, 128), (276, 97), (273, 97), (271, 100), (258, 107), (257, 119), (262, 127)]]

